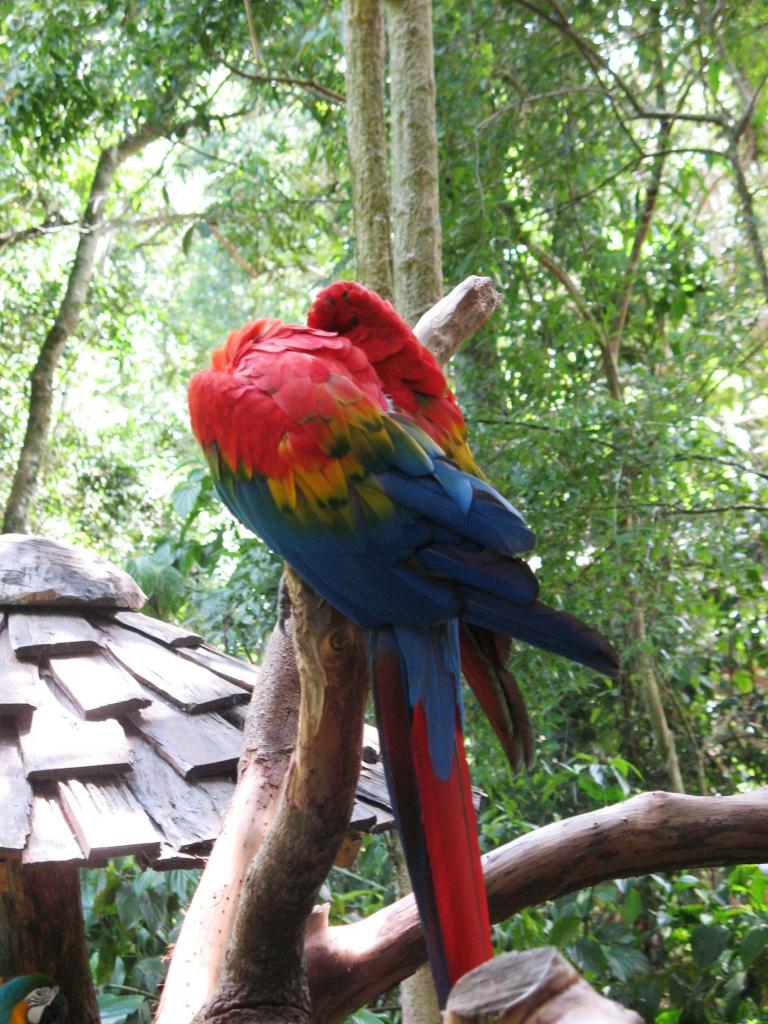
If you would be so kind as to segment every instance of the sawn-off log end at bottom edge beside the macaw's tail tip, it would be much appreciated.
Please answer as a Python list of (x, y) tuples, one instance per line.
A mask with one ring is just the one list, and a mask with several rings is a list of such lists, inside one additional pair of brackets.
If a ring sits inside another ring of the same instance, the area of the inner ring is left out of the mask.
[(599, 995), (553, 946), (505, 953), (461, 978), (442, 1024), (642, 1024)]

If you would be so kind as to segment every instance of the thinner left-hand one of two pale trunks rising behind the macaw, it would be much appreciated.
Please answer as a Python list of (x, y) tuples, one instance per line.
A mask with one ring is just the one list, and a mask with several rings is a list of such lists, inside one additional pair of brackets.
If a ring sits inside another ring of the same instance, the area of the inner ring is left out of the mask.
[(344, 0), (342, 9), (357, 280), (391, 300), (394, 291), (384, 114), (384, 8), (380, 0)]

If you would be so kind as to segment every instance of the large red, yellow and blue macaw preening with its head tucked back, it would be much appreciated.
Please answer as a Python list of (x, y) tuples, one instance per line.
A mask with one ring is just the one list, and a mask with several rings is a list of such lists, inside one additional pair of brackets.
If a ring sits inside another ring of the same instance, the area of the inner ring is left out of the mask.
[(369, 631), (387, 779), (441, 1005), (493, 955), (461, 668), (529, 761), (508, 637), (612, 675), (610, 644), (540, 602), (534, 535), (487, 482), (431, 353), (378, 295), (319, 293), (307, 326), (247, 324), (189, 386), (224, 504)]

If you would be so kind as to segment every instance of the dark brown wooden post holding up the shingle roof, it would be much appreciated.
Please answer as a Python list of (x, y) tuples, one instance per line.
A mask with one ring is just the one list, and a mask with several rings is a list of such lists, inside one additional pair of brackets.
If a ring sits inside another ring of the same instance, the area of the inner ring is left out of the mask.
[(66, 996), (73, 1024), (98, 1024), (80, 902), (80, 871), (8, 861), (0, 886), (0, 976), (42, 971)]

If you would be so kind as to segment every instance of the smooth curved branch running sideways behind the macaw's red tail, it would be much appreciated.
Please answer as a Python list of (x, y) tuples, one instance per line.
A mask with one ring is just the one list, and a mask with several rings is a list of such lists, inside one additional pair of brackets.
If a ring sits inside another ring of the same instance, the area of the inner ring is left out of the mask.
[[(646, 793), (555, 821), (485, 854), (492, 920), (611, 879), (755, 863), (768, 844), (768, 788), (734, 797)], [(426, 958), (413, 896), (307, 936), (315, 1020), (333, 1024)]]

